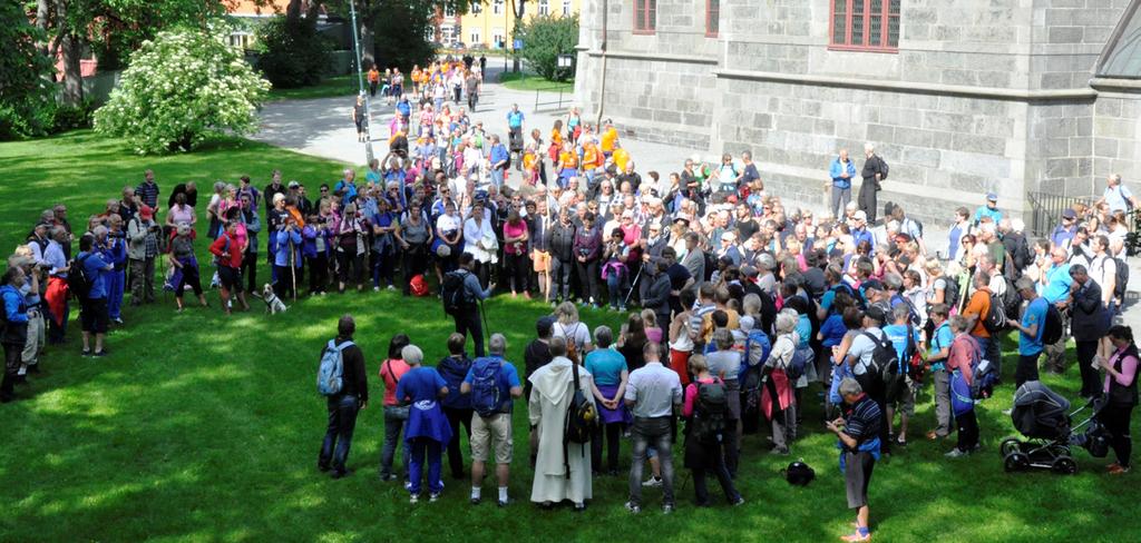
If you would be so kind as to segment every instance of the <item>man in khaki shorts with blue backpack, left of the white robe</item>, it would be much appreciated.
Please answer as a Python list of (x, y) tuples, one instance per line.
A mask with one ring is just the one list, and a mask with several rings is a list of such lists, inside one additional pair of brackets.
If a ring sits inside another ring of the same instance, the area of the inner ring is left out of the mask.
[(478, 504), (484, 482), (484, 468), (495, 442), (495, 478), (499, 483), (500, 507), (508, 504), (507, 488), (510, 482), (511, 452), (515, 442), (511, 436), (511, 408), (515, 398), (523, 396), (519, 373), (507, 360), (507, 338), (492, 334), (487, 340), (487, 356), (471, 362), (471, 369), (460, 385), (461, 394), (471, 395), (471, 503)]

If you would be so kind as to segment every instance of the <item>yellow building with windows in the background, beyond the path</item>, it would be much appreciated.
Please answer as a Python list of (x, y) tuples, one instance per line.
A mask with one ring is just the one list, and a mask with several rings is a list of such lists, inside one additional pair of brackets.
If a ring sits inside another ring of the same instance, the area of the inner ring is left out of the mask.
[[(460, 17), (454, 41), (467, 47), (502, 49), (512, 46), (516, 0), (482, 0), (472, 3), (468, 15)], [(527, 0), (524, 20), (536, 15), (570, 16), (578, 14), (582, 0)], [(446, 44), (446, 42), (445, 42)]]

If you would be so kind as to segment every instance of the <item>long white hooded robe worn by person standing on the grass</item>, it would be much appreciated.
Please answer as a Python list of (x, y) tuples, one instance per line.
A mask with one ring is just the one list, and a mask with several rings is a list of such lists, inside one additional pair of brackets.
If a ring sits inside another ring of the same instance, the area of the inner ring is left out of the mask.
[[(567, 478), (563, 456), (563, 430), (573, 397), (570, 381), (574, 373), (570, 364), (569, 359), (558, 356), (532, 373), (529, 379), (531, 423), (539, 425), (539, 458), (535, 461), (535, 483), (531, 488), (531, 501), (535, 503), (558, 503), (563, 500), (582, 503), (593, 497), (590, 443), (567, 444), (570, 478)], [(578, 386), (588, 401), (593, 403), (591, 381), (590, 372), (580, 365)]]

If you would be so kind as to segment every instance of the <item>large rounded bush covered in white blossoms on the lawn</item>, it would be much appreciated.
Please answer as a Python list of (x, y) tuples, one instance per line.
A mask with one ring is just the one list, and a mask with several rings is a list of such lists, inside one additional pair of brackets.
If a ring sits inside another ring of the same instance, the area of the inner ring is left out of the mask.
[(254, 132), (268, 91), (222, 34), (161, 32), (131, 55), (95, 127), (144, 154), (191, 150), (213, 135)]

